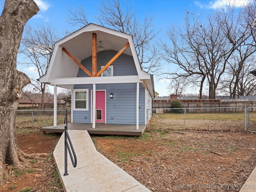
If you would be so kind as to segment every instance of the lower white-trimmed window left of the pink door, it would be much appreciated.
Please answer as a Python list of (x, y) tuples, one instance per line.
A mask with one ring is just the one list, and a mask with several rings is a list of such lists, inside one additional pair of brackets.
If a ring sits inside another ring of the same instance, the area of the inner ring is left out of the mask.
[(88, 110), (88, 89), (76, 89), (73, 93), (74, 110)]

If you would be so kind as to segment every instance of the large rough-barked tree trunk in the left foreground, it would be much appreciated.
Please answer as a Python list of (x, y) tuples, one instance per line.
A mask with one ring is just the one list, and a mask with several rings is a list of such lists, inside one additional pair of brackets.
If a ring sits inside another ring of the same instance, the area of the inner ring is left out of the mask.
[(0, 181), (6, 163), (20, 169), (26, 164), (18, 148), (15, 117), (21, 90), (30, 80), (16, 70), (16, 59), (24, 25), (38, 11), (33, 0), (6, 0), (0, 17)]

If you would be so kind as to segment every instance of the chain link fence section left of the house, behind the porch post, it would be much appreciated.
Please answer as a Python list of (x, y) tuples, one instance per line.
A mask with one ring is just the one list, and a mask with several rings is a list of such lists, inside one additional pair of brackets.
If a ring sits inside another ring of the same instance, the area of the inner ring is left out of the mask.
[[(68, 122), (71, 122), (70, 108), (57, 109), (57, 124), (64, 123), (64, 117), (68, 111)], [(33, 109), (33, 110), (17, 110), (16, 112), (16, 127), (45, 127), (53, 125), (53, 109)]]

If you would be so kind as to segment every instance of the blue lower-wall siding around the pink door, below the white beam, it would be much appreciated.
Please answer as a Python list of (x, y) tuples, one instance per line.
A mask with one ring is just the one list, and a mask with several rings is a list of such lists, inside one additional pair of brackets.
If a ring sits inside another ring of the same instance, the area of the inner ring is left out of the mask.
[[(136, 86), (136, 83), (96, 85), (96, 90), (106, 90), (106, 123), (136, 124)], [(92, 85), (76, 85), (74, 89), (89, 89), (89, 111), (74, 111), (73, 122), (90, 123)], [(141, 84), (139, 92), (139, 124), (145, 124), (145, 88)], [(110, 93), (114, 94), (113, 99), (109, 98)]]

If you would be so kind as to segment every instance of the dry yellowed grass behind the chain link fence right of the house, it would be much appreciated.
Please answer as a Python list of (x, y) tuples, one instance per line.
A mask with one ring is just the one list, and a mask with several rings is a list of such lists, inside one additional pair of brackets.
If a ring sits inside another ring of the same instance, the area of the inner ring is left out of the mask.
[(244, 130), (244, 113), (153, 114), (153, 130)]

